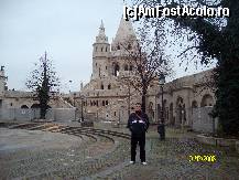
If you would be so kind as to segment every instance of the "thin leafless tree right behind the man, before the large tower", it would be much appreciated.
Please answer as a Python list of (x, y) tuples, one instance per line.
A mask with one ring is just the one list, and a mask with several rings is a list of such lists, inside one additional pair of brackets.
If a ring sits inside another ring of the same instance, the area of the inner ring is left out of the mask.
[(127, 83), (137, 89), (142, 97), (142, 110), (145, 112), (145, 97), (150, 85), (155, 85), (159, 75), (172, 74), (172, 62), (164, 55), (157, 31), (138, 28), (138, 39), (129, 39), (119, 45), (127, 52), (124, 59), (133, 65), (133, 73)]

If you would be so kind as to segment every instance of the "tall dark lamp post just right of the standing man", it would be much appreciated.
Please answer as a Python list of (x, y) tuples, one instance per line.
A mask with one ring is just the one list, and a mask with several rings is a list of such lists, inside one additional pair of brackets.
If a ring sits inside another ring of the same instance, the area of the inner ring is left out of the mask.
[(157, 127), (157, 131), (161, 136), (161, 140), (164, 140), (165, 139), (165, 127), (164, 127), (164, 115), (163, 115), (163, 86), (165, 84), (165, 76), (164, 74), (160, 74), (160, 78), (159, 78), (159, 82), (160, 82), (160, 86), (161, 86), (161, 92), (162, 92), (162, 107), (161, 107), (161, 123)]

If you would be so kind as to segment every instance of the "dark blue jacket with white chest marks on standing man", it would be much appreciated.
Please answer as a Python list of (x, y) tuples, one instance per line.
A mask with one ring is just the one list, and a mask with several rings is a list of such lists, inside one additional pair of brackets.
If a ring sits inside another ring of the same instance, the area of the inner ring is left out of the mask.
[(127, 127), (130, 129), (133, 137), (141, 137), (145, 136), (149, 125), (150, 123), (146, 114), (142, 113), (139, 117), (135, 113), (132, 113), (129, 117)]

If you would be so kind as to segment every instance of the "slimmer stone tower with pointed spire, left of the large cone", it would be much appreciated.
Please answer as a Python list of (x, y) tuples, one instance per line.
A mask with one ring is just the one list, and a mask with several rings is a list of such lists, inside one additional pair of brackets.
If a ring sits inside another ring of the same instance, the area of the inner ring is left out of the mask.
[(109, 56), (110, 44), (105, 34), (105, 27), (101, 21), (99, 34), (96, 36), (96, 42), (93, 44), (93, 76), (91, 80), (107, 77), (110, 75)]

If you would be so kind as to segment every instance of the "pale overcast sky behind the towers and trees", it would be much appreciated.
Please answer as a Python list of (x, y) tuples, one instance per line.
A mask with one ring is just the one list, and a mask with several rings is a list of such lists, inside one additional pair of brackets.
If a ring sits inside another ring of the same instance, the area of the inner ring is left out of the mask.
[[(6, 66), (9, 88), (25, 91), (34, 62), (46, 51), (62, 91), (79, 91), (80, 82), (90, 78), (100, 21), (111, 43), (122, 10), (122, 0), (0, 0), (0, 65)], [(175, 77), (200, 71), (192, 65), (185, 73), (177, 64)]]

